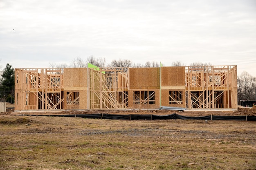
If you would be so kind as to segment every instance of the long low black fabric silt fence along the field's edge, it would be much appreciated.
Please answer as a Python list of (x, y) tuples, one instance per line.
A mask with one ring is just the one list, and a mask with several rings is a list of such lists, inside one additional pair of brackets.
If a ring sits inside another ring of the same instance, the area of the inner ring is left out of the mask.
[(116, 114), (79, 114), (79, 115), (24, 115), (24, 116), (55, 116), (55, 117), (82, 117), (88, 119), (119, 119), (119, 120), (166, 120), (166, 119), (183, 119), (183, 120), (246, 120), (256, 121), (256, 116), (201, 116), (190, 117), (182, 116), (176, 113), (171, 115), (116, 115)]

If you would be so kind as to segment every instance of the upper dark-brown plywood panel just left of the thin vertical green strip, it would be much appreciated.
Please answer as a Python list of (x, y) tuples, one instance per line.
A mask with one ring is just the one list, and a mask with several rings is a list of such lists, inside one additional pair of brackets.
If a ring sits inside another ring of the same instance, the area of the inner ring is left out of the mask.
[(159, 68), (129, 68), (130, 89), (159, 89)]

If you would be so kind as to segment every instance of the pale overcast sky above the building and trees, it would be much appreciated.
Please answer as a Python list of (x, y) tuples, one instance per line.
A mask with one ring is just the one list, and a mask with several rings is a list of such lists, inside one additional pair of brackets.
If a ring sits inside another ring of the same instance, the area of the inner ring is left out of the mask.
[(0, 0), (1, 69), (91, 55), (237, 65), (256, 76), (256, 0)]

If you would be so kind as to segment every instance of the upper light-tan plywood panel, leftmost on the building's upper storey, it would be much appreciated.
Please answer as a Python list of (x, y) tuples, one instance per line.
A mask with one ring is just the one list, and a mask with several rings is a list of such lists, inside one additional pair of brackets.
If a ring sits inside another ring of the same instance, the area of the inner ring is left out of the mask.
[(64, 68), (63, 86), (88, 87), (87, 68)]

